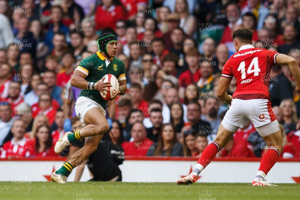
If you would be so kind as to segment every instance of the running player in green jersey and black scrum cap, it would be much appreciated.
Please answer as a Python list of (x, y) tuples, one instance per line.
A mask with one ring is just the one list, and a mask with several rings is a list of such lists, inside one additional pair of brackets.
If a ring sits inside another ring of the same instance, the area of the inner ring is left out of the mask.
[(51, 174), (54, 182), (65, 183), (71, 170), (96, 151), (103, 134), (109, 129), (105, 118), (107, 101), (101, 97), (100, 92), (109, 91), (106, 87), (111, 85), (110, 82), (103, 82), (103, 76), (113, 74), (117, 77), (119, 95), (125, 94), (127, 90), (124, 63), (114, 57), (117, 48), (115, 35), (102, 33), (98, 46), (99, 51), (84, 58), (71, 77), (71, 85), (81, 89), (75, 103), (75, 112), (84, 127), (74, 133), (66, 132), (56, 142), (54, 150), (59, 153), (70, 143), (83, 137), (86, 137), (85, 144), (60, 169)]

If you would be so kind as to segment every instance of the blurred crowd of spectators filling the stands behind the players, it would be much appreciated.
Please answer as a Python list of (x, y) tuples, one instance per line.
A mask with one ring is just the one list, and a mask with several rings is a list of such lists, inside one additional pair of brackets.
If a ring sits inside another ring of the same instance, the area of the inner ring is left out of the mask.
[[(253, 30), (253, 46), (300, 65), (300, 0), (0, 0), (0, 157), (70, 156), (53, 150), (65, 131), (81, 126), (73, 112), (80, 90), (69, 80), (98, 51), (102, 32), (117, 36), (128, 87), (107, 106), (111, 129), (103, 142), (111, 156), (118, 149), (198, 157), (229, 107), (216, 88), (240, 27)], [(263, 80), (281, 124), (281, 156), (300, 157), (291, 72), (273, 66)], [(248, 123), (217, 156), (260, 157), (265, 149)]]

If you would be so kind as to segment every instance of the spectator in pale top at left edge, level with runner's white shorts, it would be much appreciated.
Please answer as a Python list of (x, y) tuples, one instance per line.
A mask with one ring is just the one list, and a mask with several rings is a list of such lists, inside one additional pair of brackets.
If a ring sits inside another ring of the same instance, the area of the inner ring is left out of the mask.
[(8, 102), (0, 102), (0, 146), (12, 138), (9, 134), (13, 123), (12, 110)]

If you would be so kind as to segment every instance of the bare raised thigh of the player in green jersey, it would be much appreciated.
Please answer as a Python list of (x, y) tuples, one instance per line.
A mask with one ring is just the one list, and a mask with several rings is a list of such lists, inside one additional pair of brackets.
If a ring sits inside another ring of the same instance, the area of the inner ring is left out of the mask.
[(84, 122), (86, 124), (108, 125), (105, 115), (98, 107), (92, 107), (85, 113)]

